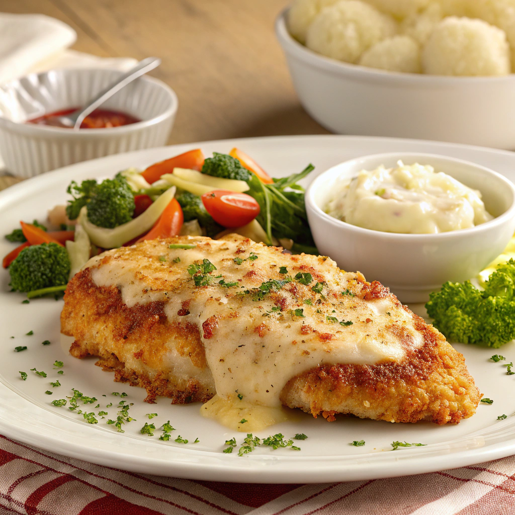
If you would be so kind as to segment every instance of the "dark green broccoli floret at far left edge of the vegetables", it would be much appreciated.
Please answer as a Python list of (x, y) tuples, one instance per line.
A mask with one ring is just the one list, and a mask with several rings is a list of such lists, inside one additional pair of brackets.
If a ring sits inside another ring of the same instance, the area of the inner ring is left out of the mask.
[(68, 282), (70, 258), (57, 243), (42, 243), (23, 249), (9, 265), (10, 286), (18, 291), (33, 291)]

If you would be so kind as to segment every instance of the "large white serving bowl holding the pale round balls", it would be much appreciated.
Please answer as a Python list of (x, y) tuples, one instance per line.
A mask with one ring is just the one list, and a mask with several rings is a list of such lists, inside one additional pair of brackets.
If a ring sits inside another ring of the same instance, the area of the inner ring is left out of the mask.
[(304, 109), (338, 134), (395, 136), (515, 149), (515, 75), (440, 77), (340, 62), (276, 34)]

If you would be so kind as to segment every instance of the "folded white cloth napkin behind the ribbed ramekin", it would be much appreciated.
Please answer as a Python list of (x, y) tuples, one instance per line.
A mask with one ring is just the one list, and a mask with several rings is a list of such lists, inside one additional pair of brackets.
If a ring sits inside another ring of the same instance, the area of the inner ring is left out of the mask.
[[(30, 73), (58, 68), (128, 70), (133, 58), (102, 58), (68, 49), (77, 34), (72, 27), (43, 14), (0, 12), (0, 84)], [(0, 173), (4, 163), (0, 157)]]

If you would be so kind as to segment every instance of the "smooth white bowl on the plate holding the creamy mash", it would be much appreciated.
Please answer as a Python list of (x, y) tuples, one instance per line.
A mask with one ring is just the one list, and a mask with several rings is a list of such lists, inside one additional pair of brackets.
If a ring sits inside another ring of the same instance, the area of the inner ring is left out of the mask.
[[(391, 168), (402, 160), (431, 165), (479, 190), (495, 218), (470, 229), (440, 234), (397, 234), (363, 229), (324, 212), (333, 188), (363, 169)], [(306, 192), (306, 211), (319, 252), (348, 271), (380, 281), (399, 300), (425, 302), (445, 281), (473, 278), (506, 247), (515, 230), (515, 186), (494, 171), (467, 161), (422, 153), (387, 153), (346, 161), (319, 175)]]

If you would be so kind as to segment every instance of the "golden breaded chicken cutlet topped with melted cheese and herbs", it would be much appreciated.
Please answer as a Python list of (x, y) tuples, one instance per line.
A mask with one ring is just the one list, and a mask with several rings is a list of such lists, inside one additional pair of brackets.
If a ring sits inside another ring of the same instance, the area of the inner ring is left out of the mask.
[(231, 234), (110, 250), (68, 283), (61, 332), (147, 401), (437, 424), (482, 397), (457, 352), (382, 284)]

